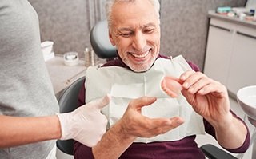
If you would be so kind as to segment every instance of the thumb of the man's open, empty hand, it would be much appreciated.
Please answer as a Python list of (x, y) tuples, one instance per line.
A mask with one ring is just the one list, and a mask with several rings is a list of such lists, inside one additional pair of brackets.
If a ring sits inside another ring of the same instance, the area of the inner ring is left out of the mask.
[(135, 107), (136, 109), (141, 109), (143, 106), (151, 105), (156, 101), (156, 97), (139, 97), (137, 99), (133, 99), (129, 103), (129, 107)]

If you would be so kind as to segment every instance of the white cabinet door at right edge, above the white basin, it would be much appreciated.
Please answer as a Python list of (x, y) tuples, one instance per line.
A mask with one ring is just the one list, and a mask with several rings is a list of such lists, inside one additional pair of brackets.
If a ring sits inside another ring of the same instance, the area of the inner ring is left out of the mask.
[(256, 29), (237, 26), (226, 86), (232, 93), (256, 85)]

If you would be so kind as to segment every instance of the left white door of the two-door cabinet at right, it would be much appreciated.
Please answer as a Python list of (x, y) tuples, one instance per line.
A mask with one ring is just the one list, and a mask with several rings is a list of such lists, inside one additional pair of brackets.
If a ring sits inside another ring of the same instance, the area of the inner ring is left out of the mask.
[(216, 19), (210, 20), (204, 73), (226, 85), (233, 47), (234, 26)]

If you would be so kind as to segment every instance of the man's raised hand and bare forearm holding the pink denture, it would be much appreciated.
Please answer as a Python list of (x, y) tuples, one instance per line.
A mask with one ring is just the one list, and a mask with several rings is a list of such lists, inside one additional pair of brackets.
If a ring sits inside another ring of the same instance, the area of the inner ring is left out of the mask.
[(226, 87), (194, 70), (182, 74), (180, 79), (184, 81), (182, 94), (194, 111), (214, 126), (218, 143), (226, 149), (240, 147), (246, 139), (247, 129), (230, 113)]

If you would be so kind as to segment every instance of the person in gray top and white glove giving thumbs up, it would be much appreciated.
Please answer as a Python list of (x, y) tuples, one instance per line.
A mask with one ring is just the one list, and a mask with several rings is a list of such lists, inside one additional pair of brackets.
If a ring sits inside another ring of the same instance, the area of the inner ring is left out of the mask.
[(94, 146), (106, 132), (100, 110), (109, 95), (58, 113), (40, 43), (38, 15), (30, 2), (0, 1), (1, 159), (55, 158), (56, 139)]

